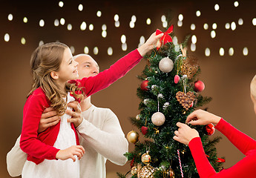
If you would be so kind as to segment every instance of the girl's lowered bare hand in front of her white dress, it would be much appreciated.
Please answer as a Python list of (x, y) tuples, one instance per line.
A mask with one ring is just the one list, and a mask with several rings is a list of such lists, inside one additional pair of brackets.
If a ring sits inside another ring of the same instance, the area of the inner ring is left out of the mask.
[(85, 148), (83, 148), (81, 145), (73, 145), (70, 148), (58, 151), (56, 154), (56, 159), (66, 160), (71, 158), (73, 159), (73, 162), (75, 162), (75, 155), (78, 156), (78, 159), (80, 160), (83, 154), (85, 154)]

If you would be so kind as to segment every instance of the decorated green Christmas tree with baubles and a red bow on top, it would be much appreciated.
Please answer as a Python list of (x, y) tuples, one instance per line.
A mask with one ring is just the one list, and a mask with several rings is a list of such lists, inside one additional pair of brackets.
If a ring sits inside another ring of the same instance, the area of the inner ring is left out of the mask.
[[(131, 122), (140, 129), (145, 141), (139, 141), (139, 133), (130, 131), (129, 142), (135, 144), (134, 151), (125, 154), (131, 161), (131, 177), (199, 177), (188, 146), (173, 139), (177, 122), (185, 122), (195, 109), (206, 105), (211, 97), (202, 96), (205, 88), (198, 80), (200, 66), (194, 56), (186, 51), (187, 37), (182, 44), (172, 42), (173, 26), (168, 27), (161, 46), (154, 48), (144, 58), (148, 65), (138, 78), (137, 88), (141, 99), (140, 114), (131, 117)], [(162, 33), (157, 30), (157, 34)], [(170, 35), (168, 35), (170, 34)], [(203, 147), (215, 171), (220, 171), (223, 159), (217, 158), (215, 144), (220, 137), (209, 139), (214, 133), (213, 125), (191, 126), (200, 133)], [(117, 173), (119, 177), (126, 177)]]

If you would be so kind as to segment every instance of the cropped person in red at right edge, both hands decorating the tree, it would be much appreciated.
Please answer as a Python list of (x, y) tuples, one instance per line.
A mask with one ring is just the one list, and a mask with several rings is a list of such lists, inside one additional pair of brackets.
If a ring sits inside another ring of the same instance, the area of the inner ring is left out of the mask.
[[(251, 98), (256, 113), (256, 76), (251, 82)], [(232, 142), (232, 144), (245, 155), (243, 159), (231, 168), (223, 169), (219, 173), (216, 173), (206, 158), (198, 132), (195, 129), (191, 129), (186, 124), (177, 122), (179, 130), (174, 132), (174, 139), (189, 146), (194, 162), (197, 166), (198, 174), (201, 178), (256, 177), (255, 139), (252, 139), (245, 133), (238, 131), (221, 117), (203, 110), (197, 110), (191, 113), (186, 119), (186, 123), (191, 125), (208, 125), (213, 123), (216, 125), (215, 128), (223, 133), (230, 142)]]

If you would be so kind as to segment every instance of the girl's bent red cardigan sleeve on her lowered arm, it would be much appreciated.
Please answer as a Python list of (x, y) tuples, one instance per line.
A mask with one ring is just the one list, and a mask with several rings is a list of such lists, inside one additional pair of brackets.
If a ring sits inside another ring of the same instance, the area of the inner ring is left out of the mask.
[(59, 149), (46, 145), (37, 139), (40, 118), (45, 108), (49, 106), (45, 93), (42, 89), (40, 92), (39, 89), (28, 97), (24, 105), (20, 148), (28, 155), (36, 158), (56, 159), (56, 153)]

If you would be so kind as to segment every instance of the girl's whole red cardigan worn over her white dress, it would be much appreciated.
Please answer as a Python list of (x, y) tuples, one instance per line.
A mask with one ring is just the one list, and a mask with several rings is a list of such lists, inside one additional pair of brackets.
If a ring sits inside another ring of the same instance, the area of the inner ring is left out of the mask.
[[(134, 50), (119, 59), (114, 65), (111, 65), (108, 70), (104, 70), (96, 76), (72, 82), (76, 82), (77, 85), (83, 87), (86, 96), (91, 96), (93, 93), (107, 88), (117, 79), (124, 76), (125, 73), (140, 62), (140, 59), (142, 59), (142, 56), (140, 56), (139, 51)], [(53, 127), (47, 128), (42, 133), (37, 133), (42, 113), (49, 106), (50, 102), (42, 88), (34, 90), (24, 105), (20, 148), (27, 153), (27, 160), (33, 161), (36, 164), (39, 164), (44, 159), (56, 159), (56, 153), (59, 151), (53, 145), (59, 133), (60, 122)], [(74, 128), (73, 130), (75, 131)], [(77, 133), (76, 142), (78, 143)]]

